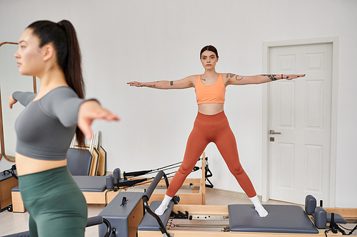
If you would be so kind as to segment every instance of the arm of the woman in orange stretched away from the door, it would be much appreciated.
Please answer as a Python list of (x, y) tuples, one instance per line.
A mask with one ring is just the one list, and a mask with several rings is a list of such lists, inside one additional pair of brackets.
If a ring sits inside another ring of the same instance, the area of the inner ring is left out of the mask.
[(193, 79), (196, 78), (195, 75), (190, 75), (186, 78), (183, 78), (181, 80), (159, 80), (151, 83), (139, 83), (137, 81), (133, 81), (130, 83), (126, 83), (131, 86), (136, 86), (136, 87), (146, 87), (146, 88), (156, 88), (156, 89), (185, 89), (185, 88), (192, 88), (194, 87), (193, 84)]

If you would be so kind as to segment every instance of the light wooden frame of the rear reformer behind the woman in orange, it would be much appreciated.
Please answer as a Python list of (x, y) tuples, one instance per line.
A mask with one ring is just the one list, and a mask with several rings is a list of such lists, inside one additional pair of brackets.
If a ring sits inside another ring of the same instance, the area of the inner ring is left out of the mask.
[[(196, 205), (205, 205), (206, 204), (206, 181), (205, 181), (205, 165), (206, 165), (206, 157), (203, 152), (203, 159), (201, 160), (202, 165), (202, 177), (199, 179), (186, 179), (183, 183), (183, 189), (191, 189), (191, 193), (179, 193), (180, 196), (180, 204), (196, 204)], [(171, 179), (169, 179), (171, 181)], [(146, 184), (149, 185), (149, 184)], [(165, 181), (161, 180), (158, 186), (165, 186)], [(198, 189), (195, 187), (198, 186)], [(140, 185), (139, 185), (140, 187)], [(191, 188), (193, 187), (193, 188)], [(143, 188), (144, 189), (144, 188)], [(125, 190), (130, 190), (127, 188)], [(84, 197), (86, 199), (87, 204), (109, 204), (114, 197), (119, 194), (119, 191), (108, 191), (108, 189), (104, 191), (83, 191)], [(150, 201), (161, 201), (164, 199), (164, 193), (154, 193), (151, 196)], [(12, 209), (14, 212), (25, 212), (26, 209), (24, 207), (24, 203), (21, 199), (21, 194), (19, 191), (11, 191), (11, 199), (12, 199)]]

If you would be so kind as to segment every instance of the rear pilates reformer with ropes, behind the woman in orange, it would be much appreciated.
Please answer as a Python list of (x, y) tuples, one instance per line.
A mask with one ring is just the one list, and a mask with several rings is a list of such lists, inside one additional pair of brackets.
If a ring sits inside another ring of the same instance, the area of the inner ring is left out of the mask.
[[(113, 200), (114, 197), (117, 196), (121, 191), (128, 191), (131, 189), (146, 189), (154, 178), (145, 178), (142, 177), (143, 175), (152, 175), (162, 170), (172, 170), (174, 168), (179, 167), (179, 164), (181, 164), (181, 162), (178, 162), (175, 164), (167, 165), (165, 167), (160, 167), (158, 169), (149, 169), (137, 172), (124, 172), (123, 174), (121, 174), (121, 170), (119, 168), (116, 168), (114, 169), (113, 174), (109, 174), (108, 176), (89, 176), (88, 174), (89, 167), (91, 166), (91, 160), (88, 157), (91, 157), (90, 150), (91, 148), (86, 149), (84, 152), (81, 152), (79, 151), (79, 149), (70, 148), (67, 152), (69, 166), (70, 164), (73, 164), (74, 167), (81, 167), (82, 169), (85, 169), (84, 173), (79, 172), (72, 174), (74, 175), (74, 180), (79, 185), (79, 188), (84, 194), (87, 204), (106, 205), (109, 204), (111, 200)], [(74, 164), (74, 161), (71, 159), (71, 157), (76, 157), (76, 161), (82, 162), (77, 162), (76, 164)], [(193, 169), (193, 172), (196, 172), (201, 169), (201, 178), (186, 179), (181, 188), (181, 191), (183, 192), (180, 192), (178, 194), (182, 204), (206, 204), (206, 186), (213, 187), (213, 184), (208, 179), (212, 176), (212, 173), (208, 168), (208, 157), (205, 156), (204, 152), (203, 156), (198, 159), (198, 161), (201, 161), (201, 167), (195, 167)], [(74, 169), (74, 171), (78, 172), (78, 169)], [(169, 174), (174, 174), (175, 172), (170, 172)], [(169, 181), (171, 181), (171, 179), (169, 179)], [(208, 181), (209, 184), (206, 184), (206, 181)], [(166, 189), (165, 182), (160, 181), (158, 187), (159, 189)], [(188, 192), (187, 189), (189, 190)], [(162, 192), (156, 192), (152, 195), (151, 199), (162, 200), (164, 199), (164, 195), (165, 194)], [(19, 186), (15, 186), (11, 190), (11, 197), (12, 211), (26, 211), (23, 201), (21, 199)]]

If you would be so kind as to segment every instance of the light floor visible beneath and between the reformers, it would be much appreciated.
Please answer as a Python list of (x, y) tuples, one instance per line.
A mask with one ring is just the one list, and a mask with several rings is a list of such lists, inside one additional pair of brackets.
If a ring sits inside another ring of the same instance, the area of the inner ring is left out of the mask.
[[(236, 193), (233, 191), (223, 191), (220, 189), (206, 189), (206, 205), (228, 205), (228, 204), (251, 204), (246, 194)], [(289, 204), (282, 201), (269, 200), (263, 204)], [(88, 216), (97, 216), (101, 210), (104, 209), (104, 205), (101, 204), (89, 204)], [(29, 214), (26, 213), (12, 213), (4, 211), (0, 213), (0, 236), (6, 236), (12, 233), (18, 233), (21, 231), (28, 231), (29, 226)], [(173, 223), (179, 224), (181, 220), (174, 220)], [(191, 222), (191, 223), (194, 223)], [(199, 223), (202, 223), (201, 221)], [(211, 223), (211, 222), (210, 222)], [(346, 228), (353, 228), (356, 225), (353, 223), (347, 224)], [(176, 227), (177, 228), (177, 227)], [(179, 228), (191, 229), (191, 228)], [(220, 231), (221, 228), (210, 228), (212, 231)], [(193, 229), (192, 229), (193, 230)], [(195, 228), (194, 230), (197, 230)], [(206, 230), (206, 229), (205, 229)], [(348, 231), (349, 232), (349, 231)], [(328, 236), (333, 236), (329, 234)], [(357, 231), (353, 233), (353, 236), (357, 236)], [(86, 237), (98, 237), (98, 226), (92, 226), (86, 228)]]

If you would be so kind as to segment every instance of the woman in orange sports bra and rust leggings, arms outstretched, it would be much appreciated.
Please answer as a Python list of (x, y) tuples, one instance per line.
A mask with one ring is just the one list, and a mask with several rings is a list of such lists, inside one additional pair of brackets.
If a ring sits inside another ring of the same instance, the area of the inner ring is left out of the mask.
[(229, 127), (226, 115), (223, 112), (227, 85), (247, 85), (268, 83), (272, 80), (294, 79), (305, 75), (252, 75), (242, 76), (232, 73), (217, 73), (216, 63), (218, 52), (213, 46), (205, 46), (200, 54), (201, 63), (205, 72), (202, 75), (190, 75), (181, 80), (160, 80), (151, 83), (127, 83), (136, 87), (156, 89), (184, 89), (195, 88), (198, 115), (193, 125), (193, 130), (188, 137), (186, 151), (181, 167), (178, 169), (166, 191), (164, 200), (155, 213), (164, 214), (169, 201), (181, 188), (183, 181), (191, 173), (198, 158), (208, 143), (214, 142), (226, 162), (229, 171), (236, 177), (239, 185), (246, 192), (255, 206), (258, 215), (267, 216), (268, 212), (261, 205), (256, 191), (246, 172), (239, 162), (236, 138)]

